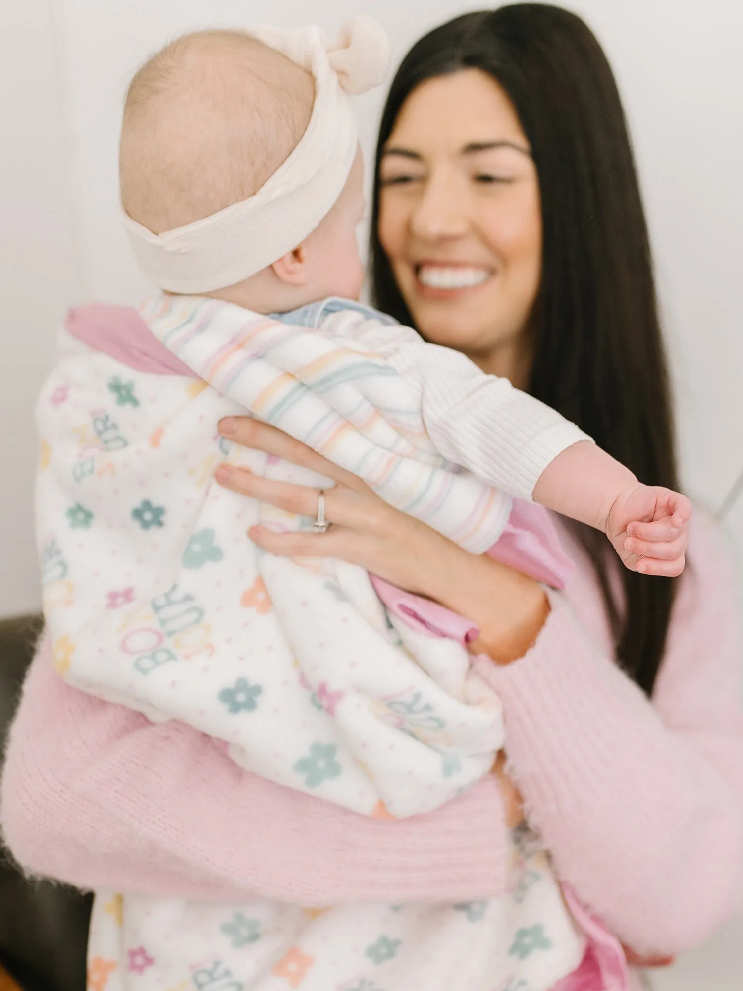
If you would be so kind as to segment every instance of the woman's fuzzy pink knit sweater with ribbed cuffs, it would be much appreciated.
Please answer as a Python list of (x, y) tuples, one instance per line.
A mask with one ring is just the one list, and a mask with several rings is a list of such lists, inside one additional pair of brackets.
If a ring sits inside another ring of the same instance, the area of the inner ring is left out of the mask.
[[(611, 659), (585, 562), (525, 657), (479, 662), (503, 701), (510, 772), (558, 873), (638, 952), (699, 942), (743, 901), (736, 603), (716, 540), (695, 518), (652, 703)], [(44, 653), (11, 732), (1, 800), (20, 863), (82, 888), (307, 905), (504, 891), (494, 779), (426, 816), (369, 820), (257, 778), (184, 725), (68, 688)]]

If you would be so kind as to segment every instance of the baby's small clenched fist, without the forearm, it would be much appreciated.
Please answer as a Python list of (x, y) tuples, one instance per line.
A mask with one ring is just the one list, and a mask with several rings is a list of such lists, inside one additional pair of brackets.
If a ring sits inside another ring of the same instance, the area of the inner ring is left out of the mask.
[(630, 571), (673, 578), (684, 571), (690, 515), (686, 495), (636, 483), (614, 500), (606, 536)]

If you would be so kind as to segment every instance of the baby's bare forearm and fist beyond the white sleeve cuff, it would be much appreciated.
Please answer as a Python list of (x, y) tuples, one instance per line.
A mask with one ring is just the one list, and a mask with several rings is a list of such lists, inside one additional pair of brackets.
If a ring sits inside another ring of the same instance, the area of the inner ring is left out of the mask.
[(684, 570), (690, 500), (642, 485), (594, 444), (574, 444), (559, 454), (540, 475), (533, 497), (603, 530), (632, 571), (674, 577)]

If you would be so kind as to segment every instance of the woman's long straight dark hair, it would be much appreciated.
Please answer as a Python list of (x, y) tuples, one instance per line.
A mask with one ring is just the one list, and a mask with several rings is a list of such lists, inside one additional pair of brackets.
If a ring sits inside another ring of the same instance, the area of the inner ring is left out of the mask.
[[(647, 225), (616, 83), (598, 42), (566, 10), (522, 3), (466, 14), (405, 56), (392, 82), (376, 153), (371, 227), (375, 304), (410, 313), (379, 244), (382, 148), (408, 95), (466, 68), (508, 94), (539, 176), (543, 272), (530, 333), (528, 390), (578, 423), (649, 485), (678, 489), (669, 376)], [(578, 526), (603, 593), (619, 663), (650, 694), (675, 585), (617, 568), (606, 538)]]

